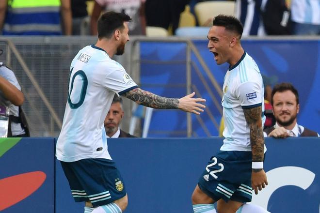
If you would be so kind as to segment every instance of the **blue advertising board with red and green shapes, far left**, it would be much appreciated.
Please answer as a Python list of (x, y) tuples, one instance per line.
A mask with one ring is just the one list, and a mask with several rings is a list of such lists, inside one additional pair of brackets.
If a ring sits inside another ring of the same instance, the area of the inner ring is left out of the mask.
[(54, 138), (0, 138), (1, 213), (54, 213)]

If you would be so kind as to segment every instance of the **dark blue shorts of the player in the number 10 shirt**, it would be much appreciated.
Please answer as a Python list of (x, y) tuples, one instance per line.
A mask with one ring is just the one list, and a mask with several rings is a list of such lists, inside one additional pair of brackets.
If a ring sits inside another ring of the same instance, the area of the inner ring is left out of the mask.
[(90, 201), (97, 207), (127, 194), (120, 172), (112, 160), (95, 158), (60, 162), (76, 202)]

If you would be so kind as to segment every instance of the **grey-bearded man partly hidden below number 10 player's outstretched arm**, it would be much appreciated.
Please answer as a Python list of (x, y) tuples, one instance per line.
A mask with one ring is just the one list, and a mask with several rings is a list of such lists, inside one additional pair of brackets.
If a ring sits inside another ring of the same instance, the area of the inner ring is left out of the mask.
[(109, 112), (103, 123), (107, 137), (135, 137), (120, 129), (119, 125), (124, 115), (122, 99), (114, 95)]

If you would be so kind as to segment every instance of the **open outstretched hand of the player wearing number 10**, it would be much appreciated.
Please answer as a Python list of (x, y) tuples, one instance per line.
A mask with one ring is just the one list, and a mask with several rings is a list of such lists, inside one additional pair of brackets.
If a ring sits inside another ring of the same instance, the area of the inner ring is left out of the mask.
[(199, 104), (198, 102), (206, 102), (206, 99), (192, 98), (194, 95), (195, 92), (192, 92), (189, 95), (179, 98), (178, 108), (185, 112), (192, 112), (196, 115), (200, 115), (200, 112), (203, 112), (203, 109), (206, 108), (206, 106)]

